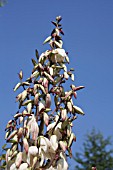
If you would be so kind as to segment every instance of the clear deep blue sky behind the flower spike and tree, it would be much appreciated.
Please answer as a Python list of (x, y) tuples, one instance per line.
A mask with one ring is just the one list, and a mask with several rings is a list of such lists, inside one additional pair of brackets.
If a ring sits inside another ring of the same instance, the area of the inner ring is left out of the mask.
[(13, 92), (17, 73), (22, 69), (29, 77), (35, 49), (40, 54), (48, 49), (42, 43), (57, 15), (63, 17), (75, 84), (86, 87), (76, 101), (86, 115), (75, 121), (73, 153), (93, 127), (113, 136), (113, 0), (9, 0), (0, 8), (0, 148), (6, 123), (18, 109)]

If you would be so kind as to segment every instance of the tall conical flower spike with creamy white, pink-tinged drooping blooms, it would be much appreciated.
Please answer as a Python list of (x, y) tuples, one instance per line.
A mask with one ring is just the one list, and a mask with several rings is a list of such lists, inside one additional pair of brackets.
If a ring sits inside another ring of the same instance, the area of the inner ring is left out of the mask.
[(32, 59), (33, 70), (23, 81), (23, 72), (18, 74), (20, 82), (14, 91), (22, 88), (17, 95), (19, 110), (6, 126), (6, 144), (1, 156), (5, 170), (67, 170), (67, 157), (72, 156), (71, 146), (76, 137), (72, 132), (77, 114), (84, 115), (74, 105), (77, 91), (84, 86), (70, 85), (65, 91), (64, 84), (69, 78), (74, 81), (74, 69), (68, 70), (68, 53), (62, 48), (64, 35), (61, 16), (52, 21), (55, 28), (44, 41), (50, 49)]

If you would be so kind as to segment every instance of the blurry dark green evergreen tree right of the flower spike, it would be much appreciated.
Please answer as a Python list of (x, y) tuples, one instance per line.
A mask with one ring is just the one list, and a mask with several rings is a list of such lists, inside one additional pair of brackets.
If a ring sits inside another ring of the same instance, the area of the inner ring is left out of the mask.
[(103, 137), (102, 133), (95, 129), (86, 135), (83, 143), (83, 151), (77, 152), (74, 160), (77, 162), (76, 170), (91, 170), (96, 167), (97, 170), (113, 170), (113, 150), (111, 138)]

